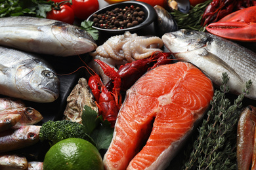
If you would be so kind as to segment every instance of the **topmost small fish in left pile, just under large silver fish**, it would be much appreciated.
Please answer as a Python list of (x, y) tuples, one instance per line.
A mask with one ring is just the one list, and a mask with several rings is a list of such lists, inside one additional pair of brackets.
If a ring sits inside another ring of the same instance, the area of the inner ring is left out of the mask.
[(25, 103), (20, 99), (15, 99), (12, 97), (2, 97), (0, 98), (0, 110), (14, 109), (19, 107), (25, 107)]

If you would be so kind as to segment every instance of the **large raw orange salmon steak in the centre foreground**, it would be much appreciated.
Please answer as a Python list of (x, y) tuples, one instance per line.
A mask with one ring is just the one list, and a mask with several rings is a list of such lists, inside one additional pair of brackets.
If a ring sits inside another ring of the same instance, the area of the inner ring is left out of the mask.
[(105, 169), (165, 169), (209, 107), (213, 92), (211, 80), (192, 63), (148, 71), (127, 90), (104, 155)]

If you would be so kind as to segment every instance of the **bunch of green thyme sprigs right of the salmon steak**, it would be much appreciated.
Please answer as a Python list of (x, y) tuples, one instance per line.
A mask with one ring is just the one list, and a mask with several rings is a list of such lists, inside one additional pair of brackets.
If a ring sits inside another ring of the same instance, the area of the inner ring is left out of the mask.
[[(184, 163), (184, 169), (236, 169), (236, 127), (245, 94), (249, 93), (251, 80), (245, 90), (234, 100), (226, 98), (229, 77), (223, 73), (223, 85), (215, 90), (211, 110), (198, 129), (198, 137), (192, 152)], [(191, 148), (191, 146), (189, 146)], [(191, 151), (191, 150), (190, 150)]]

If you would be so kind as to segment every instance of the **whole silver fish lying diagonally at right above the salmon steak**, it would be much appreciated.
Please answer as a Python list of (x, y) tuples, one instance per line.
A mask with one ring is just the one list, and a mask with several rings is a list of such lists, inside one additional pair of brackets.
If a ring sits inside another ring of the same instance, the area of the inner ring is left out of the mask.
[(232, 93), (242, 93), (251, 80), (246, 97), (256, 99), (256, 54), (251, 50), (210, 33), (186, 29), (165, 33), (162, 40), (175, 58), (199, 67), (215, 85), (220, 86), (222, 74), (228, 73)]

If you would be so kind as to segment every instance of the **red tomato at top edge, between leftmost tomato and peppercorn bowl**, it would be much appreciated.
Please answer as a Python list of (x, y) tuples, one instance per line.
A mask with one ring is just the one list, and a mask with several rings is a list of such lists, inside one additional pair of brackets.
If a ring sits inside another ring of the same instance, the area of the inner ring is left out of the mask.
[(72, 0), (72, 9), (75, 16), (81, 20), (86, 20), (91, 14), (98, 10), (98, 0)]

